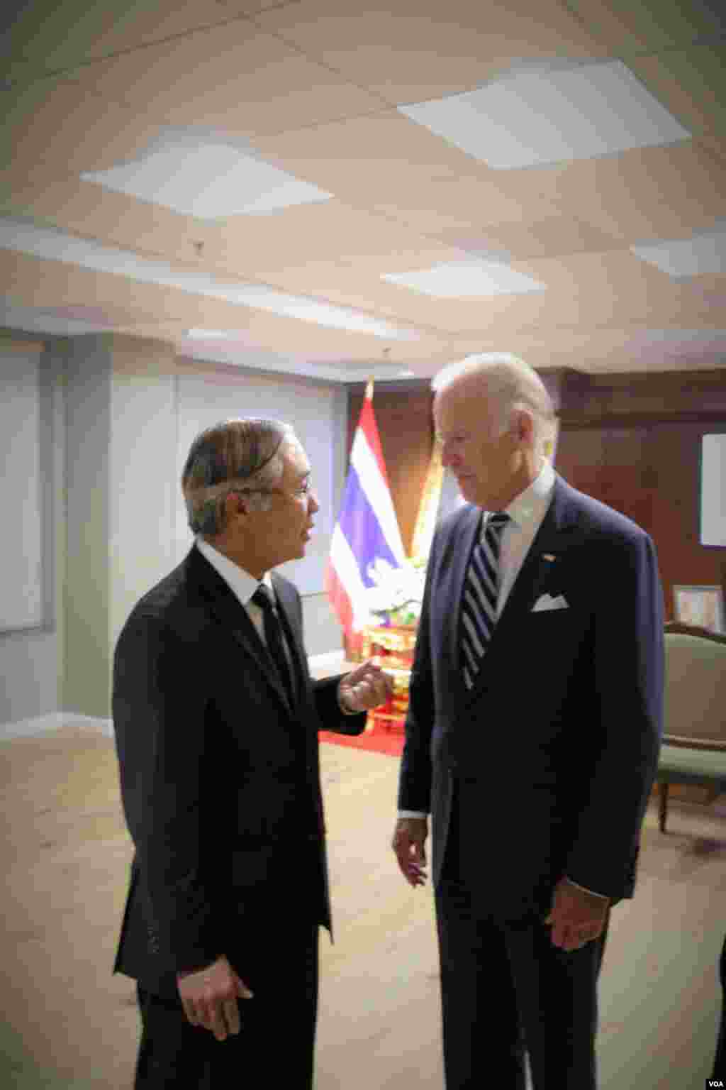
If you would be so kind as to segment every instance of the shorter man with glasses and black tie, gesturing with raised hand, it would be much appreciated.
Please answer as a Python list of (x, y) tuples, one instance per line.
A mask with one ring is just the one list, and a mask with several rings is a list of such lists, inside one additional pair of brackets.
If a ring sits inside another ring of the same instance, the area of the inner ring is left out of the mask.
[(186, 559), (135, 606), (113, 724), (136, 848), (115, 969), (137, 981), (136, 1087), (312, 1086), (330, 928), (318, 730), (360, 734), (372, 663), (311, 682), (299, 594), (318, 504), (290, 427), (232, 420), (184, 468)]

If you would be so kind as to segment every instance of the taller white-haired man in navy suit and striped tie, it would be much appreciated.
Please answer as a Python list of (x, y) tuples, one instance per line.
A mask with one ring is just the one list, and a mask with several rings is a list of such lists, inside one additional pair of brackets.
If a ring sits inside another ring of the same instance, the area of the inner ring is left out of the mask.
[(653, 543), (543, 457), (539, 376), (473, 356), (434, 382), (468, 501), (439, 528), (410, 679), (393, 847), (424, 880), (447, 1090), (593, 1090), (610, 906), (632, 895), (662, 729)]

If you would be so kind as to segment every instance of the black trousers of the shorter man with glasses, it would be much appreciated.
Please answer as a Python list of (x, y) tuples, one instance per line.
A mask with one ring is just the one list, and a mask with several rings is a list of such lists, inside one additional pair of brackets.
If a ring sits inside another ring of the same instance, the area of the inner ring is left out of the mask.
[(190, 1026), (179, 995), (137, 986), (141, 1040), (136, 1090), (311, 1090), (318, 997), (318, 927), (287, 923), (230, 956), (254, 992), (238, 1000), (241, 1032), (218, 1041)]

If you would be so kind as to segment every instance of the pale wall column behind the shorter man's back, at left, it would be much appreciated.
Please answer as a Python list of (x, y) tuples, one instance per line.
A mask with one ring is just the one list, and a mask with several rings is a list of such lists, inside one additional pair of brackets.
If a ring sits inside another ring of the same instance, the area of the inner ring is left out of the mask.
[(66, 566), (62, 708), (110, 716), (113, 646), (172, 566), (173, 347), (102, 334), (66, 355)]

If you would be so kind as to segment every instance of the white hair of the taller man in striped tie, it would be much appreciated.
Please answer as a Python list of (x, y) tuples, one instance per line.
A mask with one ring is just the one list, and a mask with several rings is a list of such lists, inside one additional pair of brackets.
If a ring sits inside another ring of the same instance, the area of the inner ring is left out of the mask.
[(492, 426), (502, 435), (516, 412), (525, 409), (534, 423), (534, 449), (549, 439), (556, 417), (547, 388), (533, 367), (510, 352), (481, 352), (451, 363), (433, 378), (439, 393), (458, 379), (471, 378), (493, 402)]

